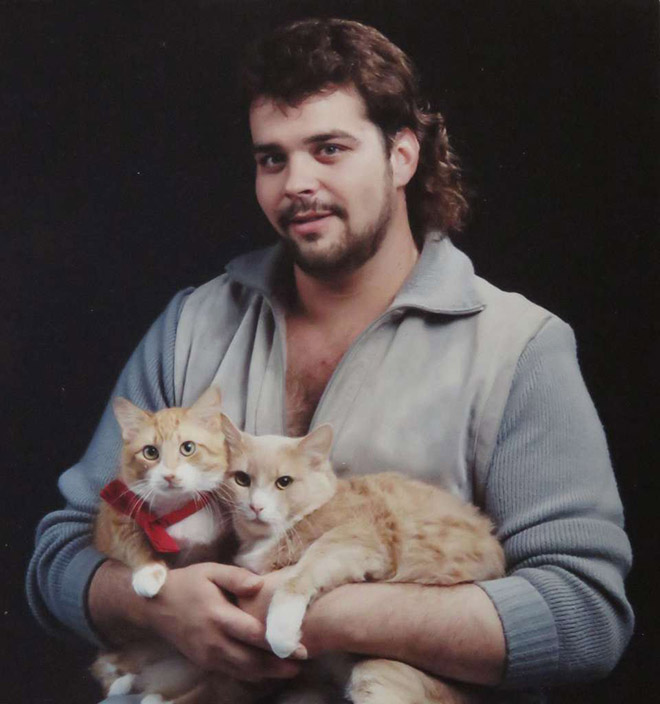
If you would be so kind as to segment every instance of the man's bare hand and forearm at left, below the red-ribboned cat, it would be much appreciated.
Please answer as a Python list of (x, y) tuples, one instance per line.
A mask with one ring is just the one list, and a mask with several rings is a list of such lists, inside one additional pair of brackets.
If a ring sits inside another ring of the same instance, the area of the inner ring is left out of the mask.
[(298, 673), (299, 665), (269, 652), (264, 623), (223, 593), (255, 596), (261, 577), (232, 565), (191, 565), (171, 570), (153, 599), (135, 594), (130, 577), (127, 567), (108, 560), (92, 580), (90, 612), (106, 637), (122, 642), (153, 632), (200, 667), (246, 681)]

